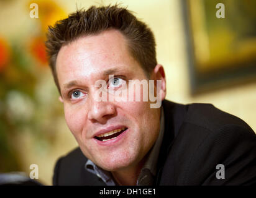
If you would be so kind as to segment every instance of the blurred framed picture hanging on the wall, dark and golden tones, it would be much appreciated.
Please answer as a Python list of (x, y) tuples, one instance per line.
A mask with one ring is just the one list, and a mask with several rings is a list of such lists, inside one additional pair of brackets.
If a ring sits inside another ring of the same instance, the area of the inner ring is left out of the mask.
[(181, 2), (191, 93), (255, 80), (256, 1)]

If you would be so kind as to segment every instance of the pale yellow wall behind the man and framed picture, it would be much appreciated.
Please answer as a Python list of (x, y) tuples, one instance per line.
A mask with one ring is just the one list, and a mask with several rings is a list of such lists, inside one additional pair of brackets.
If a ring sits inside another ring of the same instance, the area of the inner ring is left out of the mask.
[[(18, 2), (19, 4), (13, 5), (12, 11), (10, 11), (11, 13), (19, 12), (19, 6), (21, 6), (22, 1)], [(69, 13), (75, 11), (76, 6), (88, 8), (93, 4), (107, 5), (109, 3), (114, 4), (116, 1), (59, 0), (57, 2)], [(188, 61), (185, 51), (185, 32), (181, 20), (182, 14), (179, 0), (127, 0), (118, 2), (122, 2), (124, 6), (128, 6), (128, 9), (135, 11), (137, 17), (146, 22), (155, 33), (157, 59), (165, 68), (167, 76), (167, 98), (169, 100), (178, 103), (213, 103), (217, 108), (244, 119), (256, 131), (256, 83), (240, 85), (239, 87), (211, 92), (199, 95), (198, 97), (190, 96)], [(7, 13), (7, 11), (4, 11), (4, 13)], [(21, 14), (20, 23), (25, 24), (25, 17), (22, 17), (25, 14), (27, 13)], [(0, 14), (0, 17), (2, 19), (3, 14)], [(1, 32), (7, 34), (9, 33), (8, 31), (13, 31), (13, 25), (17, 24), (16, 19), (12, 15), (11, 20), (13, 23), (4, 22), (3, 24), (6, 26), (0, 27)], [(21, 24), (17, 24), (17, 27), (21, 28)], [(49, 79), (52, 80), (50, 72)], [(39, 153), (33, 149), (31, 144), (33, 139), (29, 136), (29, 133), (16, 137), (21, 142), (21, 145), (24, 145), (23, 147), (17, 145), (17, 147), (20, 147), (21, 158), (24, 161), (24, 171), (29, 173), (29, 165), (37, 163), (39, 165), (39, 178), (44, 184), (52, 184), (53, 166), (57, 158), (77, 145), (68, 127), (66, 127), (63, 117), (58, 118), (57, 124), (60, 124), (63, 130), (55, 134), (57, 143), (53, 148), (44, 153)]]

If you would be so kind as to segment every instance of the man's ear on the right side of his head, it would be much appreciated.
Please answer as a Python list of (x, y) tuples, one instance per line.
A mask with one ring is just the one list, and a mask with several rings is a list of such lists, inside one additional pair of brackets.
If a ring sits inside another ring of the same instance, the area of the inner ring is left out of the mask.
[[(163, 66), (161, 64), (157, 64), (157, 66), (155, 66), (155, 68), (153, 69), (152, 79), (153, 80), (162, 80), (161, 81), (161, 85), (162, 85), (161, 99), (164, 100), (165, 96), (167, 95), (167, 90), (166, 90), (165, 70), (163, 69)], [(155, 83), (157, 83), (157, 82), (155, 82)]]

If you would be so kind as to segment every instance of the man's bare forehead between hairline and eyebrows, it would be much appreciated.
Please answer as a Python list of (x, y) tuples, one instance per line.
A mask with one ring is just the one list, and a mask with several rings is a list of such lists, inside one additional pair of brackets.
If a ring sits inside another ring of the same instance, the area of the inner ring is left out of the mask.
[(98, 35), (78, 38), (78, 40), (62, 46), (57, 56), (57, 71), (60, 68), (70, 70), (70, 66), (73, 64), (97, 66), (99, 61), (101, 61), (100, 63), (106, 62), (106, 64), (127, 61), (126, 59), (130, 59), (132, 56), (130, 56), (127, 46), (124, 45), (126, 41), (122, 37), (118, 30), (106, 30)]

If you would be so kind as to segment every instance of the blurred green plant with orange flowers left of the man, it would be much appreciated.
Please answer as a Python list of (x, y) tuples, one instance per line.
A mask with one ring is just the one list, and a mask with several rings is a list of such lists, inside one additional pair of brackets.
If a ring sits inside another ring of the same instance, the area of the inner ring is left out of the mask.
[(17, 149), (24, 145), (17, 134), (29, 132), (35, 149), (44, 152), (55, 141), (56, 120), (63, 115), (44, 40), (46, 25), (61, 19), (64, 12), (50, 0), (33, 2), (39, 4), (40, 31), (28, 31), (22, 38), (17, 32), (12, 40), (0, 36), (0, 172), (21, 168)]

